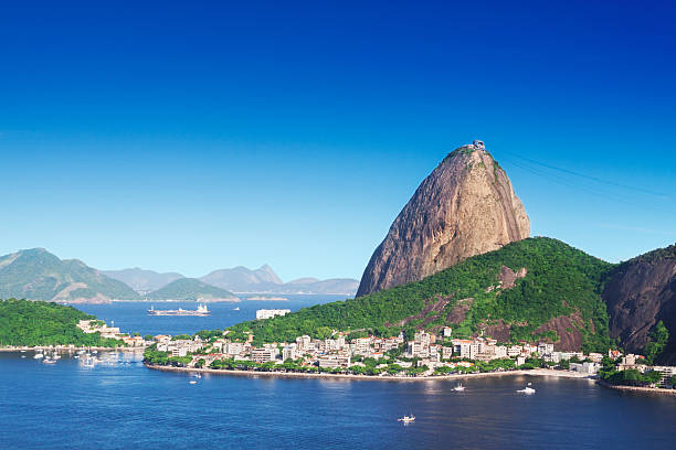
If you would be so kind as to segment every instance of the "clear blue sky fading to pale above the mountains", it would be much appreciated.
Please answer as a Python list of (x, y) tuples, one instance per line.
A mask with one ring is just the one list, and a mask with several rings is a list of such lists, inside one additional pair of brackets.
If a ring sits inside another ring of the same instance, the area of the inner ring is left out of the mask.
[(359, 278), (473, 139), (535, 235), (676, 242), (673, 6), (365, 3), (4, 4), (0, 253)]

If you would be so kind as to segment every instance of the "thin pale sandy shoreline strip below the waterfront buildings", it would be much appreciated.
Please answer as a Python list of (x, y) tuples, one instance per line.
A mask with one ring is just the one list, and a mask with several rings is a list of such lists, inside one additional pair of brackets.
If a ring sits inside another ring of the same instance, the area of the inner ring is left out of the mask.
[(282, 378), (324, 378), (324, 379), (355, 379), (365, 382), (430, 382), (430, 381), (450, 381), (450, 379), (467, 379), (467, 378), (483, 378), (487, 376), (554, 376), (559, 378), (577, 378), (577, 379), (590, 379), (595, 378), (590, 375), (578, 374), (577, 372), (570, 371), (548, 371), (548, 369), (531, 369), (531, 371), (505, 371), (505, 372), (484, 372), (476, 374), (452, 374), (452, 375), (434, 375), (434, 376), (377, 376), (377, 375), (351, 375), (351, 374), (321, 374), (321, 373), (298, 373), (298, 372), (258, 372), (258, 371), (241, 371), (241, 369), (219, 369), (219, 368), (190, 368), (190, 367), (172, 367), (172, 366), (160, 366), (154, 364), (144, 365), (149, 369), (161, 371), (161, 372), (177, 372), (177, 373), (203, 373), (214, 375), (233, 375), (233, 376), (266, 376), (266, 377), (282, 377)]

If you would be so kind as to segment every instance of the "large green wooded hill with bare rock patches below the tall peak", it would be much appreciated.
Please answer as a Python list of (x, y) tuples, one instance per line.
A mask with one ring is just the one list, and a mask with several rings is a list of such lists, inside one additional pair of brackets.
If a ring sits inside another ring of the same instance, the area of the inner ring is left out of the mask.
[(303, 309), (231, 328), (256, 343), (293, 341), (330, 330), (482, 331), (500, 342), (554, 342), (561, 350), (608, 349), (608, 313), (600, 292), (614, 266), (551, 238), (530, 238), (472, 257), (421, 281), (357, 299)]

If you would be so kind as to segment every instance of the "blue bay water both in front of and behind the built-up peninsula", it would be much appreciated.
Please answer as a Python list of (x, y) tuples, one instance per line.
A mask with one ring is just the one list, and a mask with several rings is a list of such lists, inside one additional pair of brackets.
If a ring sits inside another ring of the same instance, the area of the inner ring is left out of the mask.
[[(230, 324), (223, 312), (208, 324), (166, 318), (169, 330), (161, 329), (151, 319), (165, 318), (137, 317), (137, 308), (86, 310), (141, 333)], [(517, 394), (528, 382), (537, 394)], [(197, 379), (147, 369), (140, 357), (87, 368), (64, 356), (45, 365), (29, 352), (0, 353), (0, 449), (670, 449), (676, 441), (676, 397), (580, 379), (477, 378), (455, 393), (442, 381)], [(414, 424), (397, 421), (409, 413)]]

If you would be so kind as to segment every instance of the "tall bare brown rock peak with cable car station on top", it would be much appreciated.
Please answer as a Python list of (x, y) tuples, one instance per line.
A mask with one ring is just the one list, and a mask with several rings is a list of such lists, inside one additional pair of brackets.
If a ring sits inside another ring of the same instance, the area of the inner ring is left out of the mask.
[(505, 171), (483, 143), (450, 153), (373, 253), (357, 296), (416, 281), (530, 235)]

